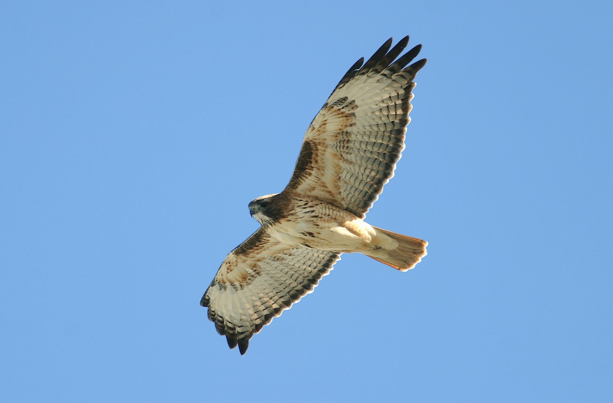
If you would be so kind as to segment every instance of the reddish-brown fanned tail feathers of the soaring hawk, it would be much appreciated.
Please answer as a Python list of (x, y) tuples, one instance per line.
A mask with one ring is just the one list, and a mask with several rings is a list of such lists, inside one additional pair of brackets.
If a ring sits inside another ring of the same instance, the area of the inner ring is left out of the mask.
[[(378, 262), (400, 271), (407, 271), (408, 269), (414, 268), (417, 263), (421, 262), (421, 258), (427, 254), (425, 247), (428, 243), (423, 239), (401, 235), (377, 227), (373, 228), (375, 228), (377, 236), (381, 237), (382, 247), (369, 250), (365, 255)], [(389, 245), (389, 238), (387, 237), (394, 239), (396, 242), (393, 244), (395, 245), (397, 243), (398, 246), (393, 249), (387, 249), (386, 244)]]

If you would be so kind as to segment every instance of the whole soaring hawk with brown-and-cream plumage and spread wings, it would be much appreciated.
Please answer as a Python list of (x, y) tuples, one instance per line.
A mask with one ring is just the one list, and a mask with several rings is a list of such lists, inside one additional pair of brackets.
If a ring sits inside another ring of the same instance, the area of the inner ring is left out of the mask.
[(421, 45), (396, 59), (408, 42), (390, 50), (390, 38), (364, 66), (364, 58), (351, 66), (308, 127), (289, 184), (249, 203), (262, 226), (227, 255), (200, 301), (242, 355), (341, 254), (360, 252), (401, 271), (425, 256), (426, 241), (364, 222), (405, 148), (413, 78), (426, 62), (407, 66)]

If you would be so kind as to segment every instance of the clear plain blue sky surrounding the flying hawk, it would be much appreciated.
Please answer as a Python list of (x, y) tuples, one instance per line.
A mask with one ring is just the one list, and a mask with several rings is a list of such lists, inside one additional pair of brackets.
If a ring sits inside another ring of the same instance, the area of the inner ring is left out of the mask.
[[(612, 12), (6, 2), (0, 400), (611, 401)], [(248, 202), (406, 34), (429, 61), (368, 221), (428, 256), (343, 255), (241, 357), (199, 301)]]

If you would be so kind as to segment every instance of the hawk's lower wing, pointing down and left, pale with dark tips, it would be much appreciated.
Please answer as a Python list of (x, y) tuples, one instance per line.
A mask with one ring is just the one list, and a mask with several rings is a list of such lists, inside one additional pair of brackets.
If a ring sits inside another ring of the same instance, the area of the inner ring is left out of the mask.
[(249, 339), (318, 284), (340, 254), (294, 247), (260, 228), (221, 263), (202, 296), (208, 318), (230, 348), (245, 354)]

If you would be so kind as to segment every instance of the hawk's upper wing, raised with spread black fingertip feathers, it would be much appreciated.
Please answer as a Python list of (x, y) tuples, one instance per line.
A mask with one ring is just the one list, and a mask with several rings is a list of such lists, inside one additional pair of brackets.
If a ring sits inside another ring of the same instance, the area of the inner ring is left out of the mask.
[(286, 192), (332, 203), (364, 218), (394, 176), (405, 148), (413, 78), (425, 59), (405, 55), (405, 37), (390, 50), (387, 40), (362, 66), (354, 64), (308, 127)]

